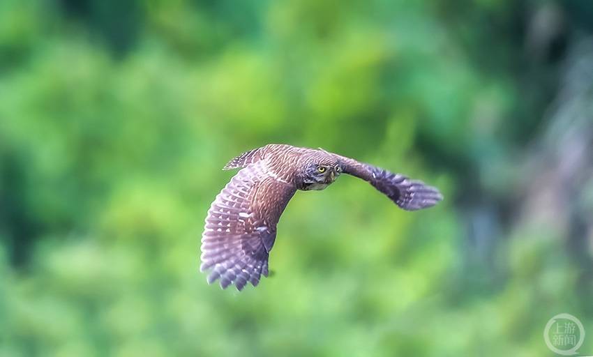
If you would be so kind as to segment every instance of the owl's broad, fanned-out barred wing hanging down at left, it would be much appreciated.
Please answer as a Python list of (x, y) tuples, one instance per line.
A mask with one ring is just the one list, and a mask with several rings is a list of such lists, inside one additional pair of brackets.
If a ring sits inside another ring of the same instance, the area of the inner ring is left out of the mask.
[(256, 286), (268, 276), (268, 257), (276, 225), (296, 188), (278, 181), (264, 160), (247, 165), (212, 202), (202, 233), (200, 271), (212, 269), (208, 283), (225, 289)]

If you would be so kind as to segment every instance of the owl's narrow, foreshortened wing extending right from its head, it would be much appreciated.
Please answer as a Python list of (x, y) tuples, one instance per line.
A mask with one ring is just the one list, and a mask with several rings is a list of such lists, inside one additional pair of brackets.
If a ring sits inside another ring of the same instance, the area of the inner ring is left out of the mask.
[(386, 169), (336, 155), (343, 172), (368, 181), (406, 211), (434, 206), (443, 199), (437, 188)]

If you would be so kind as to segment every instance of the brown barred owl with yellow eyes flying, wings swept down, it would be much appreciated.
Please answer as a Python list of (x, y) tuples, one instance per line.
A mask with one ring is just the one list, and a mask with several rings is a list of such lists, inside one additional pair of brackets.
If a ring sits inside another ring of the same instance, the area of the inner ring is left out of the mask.
[(212, 202), (202, 233), (200, 271), (211, 269), (209, 284), (220, 279), (225, 289), (257, 286), (268, 276), (268, 258), (276, 225), (296, 190), (323, 190), (340, 174), (368, 181), (400, 208), (415, 211), (442, 200), (422, 181), (393, 174), (323, 149), (269, 144), (242, 153), (223, 169), (237, 169)]

